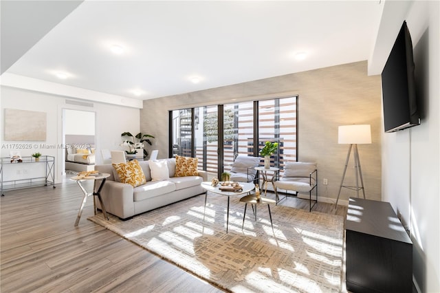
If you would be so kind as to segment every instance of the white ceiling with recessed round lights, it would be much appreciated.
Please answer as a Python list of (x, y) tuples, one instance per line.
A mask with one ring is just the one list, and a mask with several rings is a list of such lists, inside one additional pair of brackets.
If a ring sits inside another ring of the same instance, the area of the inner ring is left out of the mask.
[[(140, 100), (182, 94), (368, 60), (382, 6), (380, 1), (84, 1), (5, 72)], [(20, 23), (31, 31), (38, 26)], [(110, 52), (115, 43), (123, 54)], [(2, 52), (8, 45), (1, 44)], [(294, 58), (298, 52), (307, 54), (303, 61)], [(60, 80), (56, 72), (69, 78)], [(192, 83), (193, 76), (200, 82)], [(134, 96), (135, 89), (142, 95)]]

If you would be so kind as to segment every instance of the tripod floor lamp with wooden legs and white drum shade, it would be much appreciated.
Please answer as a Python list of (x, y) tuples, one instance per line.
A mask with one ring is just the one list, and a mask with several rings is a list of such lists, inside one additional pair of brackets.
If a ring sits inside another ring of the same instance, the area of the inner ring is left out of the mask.
[[(362, 190), (365, 198), (364, 180), (362, 179), (362, 169), (360, 168), (358, 144), (371, 144), (371, 127), (369, 124), (362, 125), (344, 125), (338, 127), (338, 143), (350, 144), (349, 153), (347, 153), (347, 160), (345, 160), (344, 173), (342, 173), (342, 180), (339, 186), (338, 199), (336, 199), (336, 206), (338, 206), (339, 196), (341, 194), (342, 187), (349, 188), (356, 191), (359, 197), (359, 191)], [(356, 186), (344, 185), (345, 173), (347, 172), (347, 166), (349, 164), (351, 149), (353, 149), (353, 156), (355, 160), (355, 179)], [(360, 180), (360, 185), (359, 185)]]

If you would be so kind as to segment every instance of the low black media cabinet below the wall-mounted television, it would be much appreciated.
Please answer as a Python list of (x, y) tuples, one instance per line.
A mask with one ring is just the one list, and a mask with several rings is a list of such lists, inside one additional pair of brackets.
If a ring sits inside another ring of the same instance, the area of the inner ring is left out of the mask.
[(412, 242), (390, 203), (351, 197), (345, 228), (347, 290), (412, 292)]

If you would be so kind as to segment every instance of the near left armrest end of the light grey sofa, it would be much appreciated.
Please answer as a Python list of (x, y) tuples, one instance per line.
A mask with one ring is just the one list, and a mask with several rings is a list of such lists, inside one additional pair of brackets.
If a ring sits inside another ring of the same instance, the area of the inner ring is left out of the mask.
[[(122, 219), (135, 214), (133, 186), (130, 184), (107, 180), (102, 186), (101, 197), (108, 213)], [(96, 203), (99, 207), (99, 201)]]

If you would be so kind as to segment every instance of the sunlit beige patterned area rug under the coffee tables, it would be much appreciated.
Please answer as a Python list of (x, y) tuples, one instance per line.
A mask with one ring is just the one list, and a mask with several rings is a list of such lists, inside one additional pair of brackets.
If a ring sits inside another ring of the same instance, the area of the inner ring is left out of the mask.
[[(208, 193), (121, 221), (89, 220), (199, 278), (230, 292), (340, 292), (344, 219), (337, 215), (266, 205), (255, 221), (248, 205)], [(203, 217), (204, 216), (204, 217)]]

